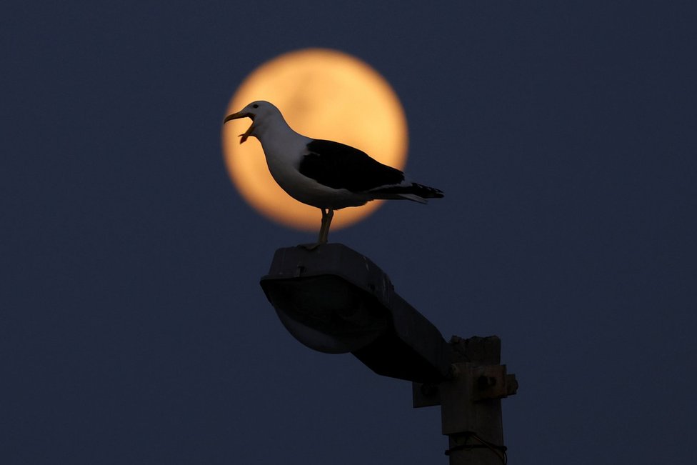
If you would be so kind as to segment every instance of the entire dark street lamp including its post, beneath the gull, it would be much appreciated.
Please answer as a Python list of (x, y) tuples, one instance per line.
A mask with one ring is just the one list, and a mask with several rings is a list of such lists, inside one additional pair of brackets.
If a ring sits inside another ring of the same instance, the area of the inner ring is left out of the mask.
[(415, 407), (440, 404), (451, 465), (505, 461), (500, 399), (517, 382), (499, 365), (498, 337), (448, 344), (384, 271), (343, 244), (278, 249), (261, 288), (302, 344), (412, 381)]

